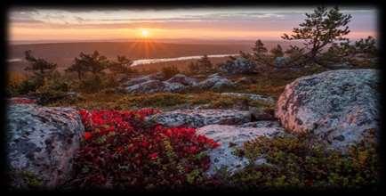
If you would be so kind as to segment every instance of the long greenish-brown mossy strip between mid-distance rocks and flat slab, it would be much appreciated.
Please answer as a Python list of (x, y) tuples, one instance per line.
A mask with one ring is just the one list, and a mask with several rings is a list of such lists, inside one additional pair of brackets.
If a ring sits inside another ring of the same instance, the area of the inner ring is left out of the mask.
[(272, 108), (266, 102), (258, 102), (243, 97), (224, 96), (213, 92), (201, 92), (196, 94), (81, 94), (78, 100), (60, 100), (47, 104), (48, 106), (75, 106), (89, 110), (111, 109), (132, 110), (144, 107), (168, 109), (171, 107), (186, 107), (204, 105), (207, 109), (230, 109), (235, 106), (253, 106)]

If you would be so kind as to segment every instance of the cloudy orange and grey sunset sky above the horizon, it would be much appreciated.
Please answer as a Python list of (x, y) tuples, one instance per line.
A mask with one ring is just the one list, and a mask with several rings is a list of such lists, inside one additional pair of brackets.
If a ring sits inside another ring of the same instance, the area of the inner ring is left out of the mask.
[[(278, 40), (291, 33), (313, 7), (220, 7), (181, 9), (14, 7), (8, 39), (231, 39)], [(348, 37), (377, 37), (377, 9), (341, 7), (350, 13)]]

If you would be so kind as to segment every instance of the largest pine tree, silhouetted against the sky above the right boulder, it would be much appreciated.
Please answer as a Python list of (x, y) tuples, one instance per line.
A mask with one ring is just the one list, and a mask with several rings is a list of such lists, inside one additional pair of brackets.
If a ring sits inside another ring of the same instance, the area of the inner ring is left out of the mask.
[(323, 47), (334, 43), (334, 41), (342, 41), (347, 38), (350, 33), (349, 26), (351, 15), (343, 14), (339, 8), (335, 6), (328, 10), (324, 6), (318, 6), (313, 13), (305, 13), (306, 19), (299, 24), (299, 28), (293, 29), (293, 35), (283, 35), (286, 40), (304, 40), (304, 45), (310, 50), (307, 53), (311, 61), (316, 61), (318, 53)]

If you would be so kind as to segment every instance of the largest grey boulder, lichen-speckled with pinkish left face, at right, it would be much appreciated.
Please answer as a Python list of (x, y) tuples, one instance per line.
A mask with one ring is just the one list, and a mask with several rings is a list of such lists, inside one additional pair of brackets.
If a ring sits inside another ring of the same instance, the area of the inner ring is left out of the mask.
[[(311, 132), (329, 147), (345, 151), (375, 139), (380, 118), (380, 73), (341, 69), (296, 79), (285, 86), (276, 116), (293, 132)], [(375, 136), (372, 132), (375, 131)]]

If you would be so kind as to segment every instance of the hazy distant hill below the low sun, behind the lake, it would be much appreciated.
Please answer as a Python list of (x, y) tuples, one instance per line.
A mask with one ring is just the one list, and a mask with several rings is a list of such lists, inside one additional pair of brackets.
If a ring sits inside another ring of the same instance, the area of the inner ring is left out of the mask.
[[(194, 41), (194, 40), (190, 40)], [(280, 44), (284, 48), (289, 45), (282, 41), (265, 41), (267, 48)], [(117, 55), (125, 55), (129, 59), (154, 59), (154, 58), (175, 58), (181, 56), (194, 56), (203, 54), (227, 54), (238, 53), (240, 50), (251, 52), (253, 41), (246, 42), (222, 41), (217, 43), (185, 44), (185, 43), (162, 43), (154, 41), (136, 42), (78, 42), (78, 43), (52, 43), (52, 44), (25, 44), (9, 45), (8, 60), (20, 59), (22, 61), (9, 61), (9, 69), (21, 71), (27, 66), (24, 61), (24, 52), (31, 50), (33, 55), (44, 58), (48, 61), (58, 63), (59, 69), (67, 68), (79, 53), (92, 53), (97, 50), (109, 59), (117, 58)], [(146, 65), (144, 65), (146, 66)], [(177, 65), (178, 66), (178, 65)]]

